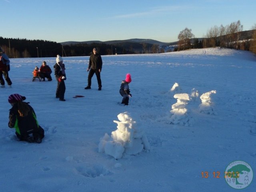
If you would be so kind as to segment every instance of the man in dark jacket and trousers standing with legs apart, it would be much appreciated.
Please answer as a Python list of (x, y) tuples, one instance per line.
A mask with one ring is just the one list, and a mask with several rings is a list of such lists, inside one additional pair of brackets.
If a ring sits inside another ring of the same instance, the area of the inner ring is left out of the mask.
[(102, 58), (101, 56), (97, 53), (97, 49), (93, 48), (93, 54), (91, 54), (90, 59), (89, 59), (89, 65), (87, 68), (87, 72), (90, 70), (88, 74), (88, 85), (84, 89), (90, 89), (91, 84), (92, 84), (92, 76), (94, 73), (96, 74), (97, 81), (98, 81), (98, 90), (101, 90), (101, 79), (100, 79), (100, 72), (102, 69)]

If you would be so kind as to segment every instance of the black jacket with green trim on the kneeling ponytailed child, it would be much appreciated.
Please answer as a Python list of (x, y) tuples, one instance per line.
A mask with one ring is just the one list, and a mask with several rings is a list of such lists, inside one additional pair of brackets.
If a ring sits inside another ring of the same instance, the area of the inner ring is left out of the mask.
[[(27, 103), (28, 104), (28, 103)], [(38, 122), (36, 120), (36, 113), (34, 109), (28, 104), (30, 111), (25, 117), (21, 117), (18, 113), (18, 103), (10, 109), (9, 123), (10, 128), (16, 128), (16, 132), (20, 135), (26, 136), (28, 134), (38, 131)]]

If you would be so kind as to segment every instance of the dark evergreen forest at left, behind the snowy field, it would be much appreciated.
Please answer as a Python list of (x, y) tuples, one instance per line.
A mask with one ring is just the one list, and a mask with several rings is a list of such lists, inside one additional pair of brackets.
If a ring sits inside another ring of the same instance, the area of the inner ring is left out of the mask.
[[(36, 58), (62, 56), (90, 56), (94, 47), (102, 55), (111, 54), (135, 54), (127, 45), (115, 45), (114, 47), (104, 43), (79, 43), (62, 45), (46, 40), (27, 40), (20, 38), (0, 37), (0, 46), (8, 54), (9, 58)], [(113, 52), (114, 49), (114, 52)]]

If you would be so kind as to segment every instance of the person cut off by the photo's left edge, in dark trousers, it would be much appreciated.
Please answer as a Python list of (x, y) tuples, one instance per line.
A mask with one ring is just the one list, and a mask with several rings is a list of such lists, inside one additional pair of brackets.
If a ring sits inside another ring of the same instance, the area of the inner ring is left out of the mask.
[[(10, 71), (10, 60), (8, 56), (4, 53), (4, 50), (0, 47), (0, 84), (1, 88), (4, 88), (4, 78), (8, 86), (12, 86), (12, 81), (9, 78), (8, 71)], [(4, 78), (3, 78), (4, 75)]]

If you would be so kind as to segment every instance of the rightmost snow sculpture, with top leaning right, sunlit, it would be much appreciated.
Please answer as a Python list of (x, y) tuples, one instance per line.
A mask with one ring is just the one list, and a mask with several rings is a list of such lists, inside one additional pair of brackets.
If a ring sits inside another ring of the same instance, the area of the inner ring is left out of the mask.
[(216, 90), (206, 92), (200, 96), (202, 103), (199, 105), (199, 111), (201, 113), (216, 115), (213, 109), (212, 94), (216, 94)]

